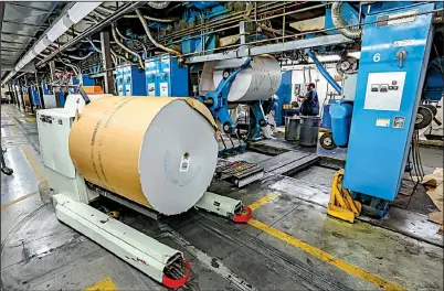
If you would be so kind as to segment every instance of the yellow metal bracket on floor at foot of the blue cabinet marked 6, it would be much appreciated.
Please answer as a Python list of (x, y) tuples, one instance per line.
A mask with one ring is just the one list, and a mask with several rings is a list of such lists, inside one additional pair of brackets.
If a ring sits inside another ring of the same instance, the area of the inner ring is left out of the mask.
[(342, 187), (343, 169), (334, 175), (331, 184), (330, 201), (327, 207), (327, 214), (353, 223), (355, 218), (361, 214), (361, 203), (353, 201), (350, 192)]

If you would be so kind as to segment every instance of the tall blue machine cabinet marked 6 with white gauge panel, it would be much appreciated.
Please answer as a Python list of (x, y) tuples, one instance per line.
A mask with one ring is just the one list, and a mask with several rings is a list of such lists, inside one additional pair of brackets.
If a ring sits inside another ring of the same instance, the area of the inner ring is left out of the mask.
[[(343, 180), (348, 190), (385, 201), (399, 192), (429, 62), (432, 14), (402, 21), (390, 15), (433, 9), (433, 3), (417, 4), (366, 18), (387, 21), (363, 30)], [(406, 55), (400, 62), (402, 50)]]

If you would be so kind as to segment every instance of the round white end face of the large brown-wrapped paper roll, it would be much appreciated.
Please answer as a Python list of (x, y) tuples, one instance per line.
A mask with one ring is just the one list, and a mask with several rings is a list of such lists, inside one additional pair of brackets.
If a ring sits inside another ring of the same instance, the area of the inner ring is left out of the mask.
[(191, 208), (215, 171), (214, 129), (184, 101), (163, 107), (140, 148), (141, 190), (156, 211), (172, 215)]

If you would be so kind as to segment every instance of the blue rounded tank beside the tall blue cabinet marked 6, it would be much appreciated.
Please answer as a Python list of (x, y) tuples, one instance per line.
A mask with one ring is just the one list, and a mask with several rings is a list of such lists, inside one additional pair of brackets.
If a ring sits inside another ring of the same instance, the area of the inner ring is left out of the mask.
[(340, 101), (330, 106), (331, 134), (336, 146), (347, 147), (350, 134), (351, 115), (353, 105), (350, 101)]

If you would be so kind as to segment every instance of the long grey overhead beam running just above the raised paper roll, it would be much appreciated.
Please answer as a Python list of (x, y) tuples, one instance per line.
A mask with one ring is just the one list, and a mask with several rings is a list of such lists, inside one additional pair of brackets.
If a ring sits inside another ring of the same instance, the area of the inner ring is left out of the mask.
[(353, 40), (350, 40), (342, 34), (332, 34), (332, 35), (324, 35), (314, 39), (305, 39), (297, 41), (289, 41), (284, 43), (275, 43), (267, 44), (261, 46), (253, 46), (246, 50), (233, 50), (224, 53), (210, 54), (210, 55), (200, 55), (200, 56), (191, 56), (186, 62), (188, 64), (202, 63), (209, 61), (220, 61), (220, 60), (229, 60), (235, 57), (244, 57), (244, 56), (255, 56), (262, 54), (272, 54), (279, 53), (285, 51), (294, 51), (294, 50), (304, 50), (317, 46), (331, 46), (338, 44), (348, 44), (352, 43)]

